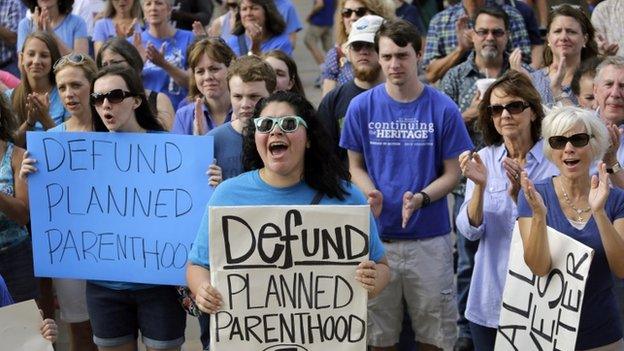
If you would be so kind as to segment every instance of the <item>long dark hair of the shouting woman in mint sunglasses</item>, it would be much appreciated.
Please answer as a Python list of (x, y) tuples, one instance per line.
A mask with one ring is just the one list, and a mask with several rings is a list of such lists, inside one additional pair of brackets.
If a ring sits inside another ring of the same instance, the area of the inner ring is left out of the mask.
[(250, 171), (264, 167), (264, 163), (256, 149), (254, 138), (255, 125), (253, 120), (260, 116), (262, 110), (272, 102), (284, 102), (293, 108), (297, 116), (303, 118), (308, 125), (306, 133), (309, 147), (304, 154), (303, 181), (312, 189), (320, 191), (330, 198), (344, 200), (349, 192), (344, 188), (343, 181), (349, 181), (351, 175), (333, 152), (329, 143), (330, 137), (316, 116), (312, 104), (303, 96), (278, 91), (256, 104), (254, 118), (249, 119), (243, 130), (243, 166)]

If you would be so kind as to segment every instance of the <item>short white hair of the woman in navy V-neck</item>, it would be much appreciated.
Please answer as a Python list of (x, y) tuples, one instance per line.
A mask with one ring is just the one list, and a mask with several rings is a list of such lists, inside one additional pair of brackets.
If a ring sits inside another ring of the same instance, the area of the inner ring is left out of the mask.
[[(604, 122), (596, 116), (594, 111), (588, 111), (580, 107), (566, 106), (553, 109), (542, 121), (542, 138), (544, 139), (544, 156), (553, 162), (552, 148), (548, 138), (555, 135), (563, 135), (576, 125), (583, 125), (589, 139), (589, 147), (592, 151), (592, 160), (602, 159), (611, 143), (609, 131)], [(554, 162), (553, 162), (554, 163)]]

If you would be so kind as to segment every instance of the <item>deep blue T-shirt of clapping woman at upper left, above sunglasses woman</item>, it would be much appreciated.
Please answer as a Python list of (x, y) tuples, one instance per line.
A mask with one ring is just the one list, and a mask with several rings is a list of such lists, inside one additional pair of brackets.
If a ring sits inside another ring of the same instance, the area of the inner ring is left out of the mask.
[[(143, 46), (147, 47), (148, 43), (152, 43), (160, 50), (164, 44), (165, 60), (182, 70), (187, 68), (186, 50), (193, 42), (193, 38), (192, 32), (182, 29), (177, 29), (175, 34), (168, 38), (155, 38), (147, 30), (141, 33)], [(187, 87), (176, 84), (164, 69), (150, 60), (145, 61), (143, 65), (142, 77), (146, 89), (165, 93), (173, 106), (178, 106), (180, 101), (188, 95)]]

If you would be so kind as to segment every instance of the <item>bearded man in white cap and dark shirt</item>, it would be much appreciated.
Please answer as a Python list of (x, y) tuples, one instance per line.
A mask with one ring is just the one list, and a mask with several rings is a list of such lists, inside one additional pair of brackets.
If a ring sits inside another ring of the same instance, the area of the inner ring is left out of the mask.
[(338, 146), (338, 141), (349, 102), (360, 93), (384, 81), (379, 56), (375, 51), (375, 33), (383, 21), (382, 17), (368, 15), (351, 25), (346, 45), (347, 57), (353, 65), (355, 78), (327, 93), (318, 108), (317, 115), (331, 135), (336, 152), (345, 164), (347, 152)]

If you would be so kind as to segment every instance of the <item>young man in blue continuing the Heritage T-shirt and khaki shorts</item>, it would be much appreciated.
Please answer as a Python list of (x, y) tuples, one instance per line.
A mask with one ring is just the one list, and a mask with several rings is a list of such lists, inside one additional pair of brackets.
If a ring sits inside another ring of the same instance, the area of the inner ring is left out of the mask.
[(457, 338), (446, 196), (459, 180), (459, 154), (473, 145), (457, 105), (418, 79), (421, 44), (409, 22), (381, 25), (375, 49), (386, 82), (351, 101), (340, 138), (392, 270), (368, 304), (373, 350), (392, 350), (399, 340), (403, 300), (418, 350), (449, 350)]

